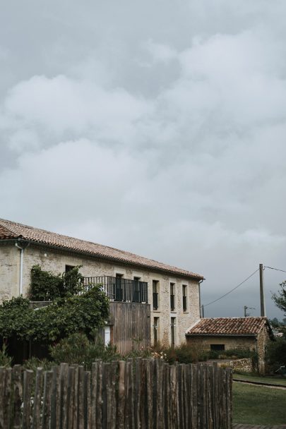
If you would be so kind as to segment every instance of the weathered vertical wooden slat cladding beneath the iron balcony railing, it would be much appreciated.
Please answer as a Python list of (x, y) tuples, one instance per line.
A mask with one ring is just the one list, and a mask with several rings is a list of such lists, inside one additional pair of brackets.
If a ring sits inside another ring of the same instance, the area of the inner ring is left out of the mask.
[(150, 305), (141, 303), (110, 303), (111, 340), (119, 353), (150, 345)]

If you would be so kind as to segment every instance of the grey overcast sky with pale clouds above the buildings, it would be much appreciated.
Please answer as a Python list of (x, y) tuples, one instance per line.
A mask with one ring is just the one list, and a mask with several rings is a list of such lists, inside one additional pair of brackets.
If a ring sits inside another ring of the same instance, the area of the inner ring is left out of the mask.
[(203, 274), (204, 304), (286, 270), (285, 0), (0, 4), (0, 217)]

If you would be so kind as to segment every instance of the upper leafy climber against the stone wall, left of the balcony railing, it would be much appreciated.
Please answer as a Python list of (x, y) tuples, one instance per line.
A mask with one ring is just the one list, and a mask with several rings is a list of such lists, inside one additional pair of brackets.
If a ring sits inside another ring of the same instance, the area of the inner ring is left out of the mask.
[(54, 301), (57, 298), (73, 296), (83, 290), (83, 275), (78, 265), (68, 272), (54, 274), (44, 271), (40, 265), (31, 270), (29, 298), (31, 301)]

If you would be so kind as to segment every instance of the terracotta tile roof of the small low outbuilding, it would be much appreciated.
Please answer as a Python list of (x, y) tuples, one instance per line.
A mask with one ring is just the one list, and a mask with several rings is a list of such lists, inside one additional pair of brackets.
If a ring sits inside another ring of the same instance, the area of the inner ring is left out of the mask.
[(205, 318), (193, 325), (186, 335), (257, 335), (267, 318)]

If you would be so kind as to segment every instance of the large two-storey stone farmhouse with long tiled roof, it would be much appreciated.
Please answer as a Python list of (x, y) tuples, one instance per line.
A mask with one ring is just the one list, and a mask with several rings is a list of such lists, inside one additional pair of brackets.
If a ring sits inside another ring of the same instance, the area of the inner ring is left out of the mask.
[(55, 273), (81, 265), (86, 284), (101, 283), (112, 303), (149, 306), (147, 322), (152, 343), (175, 346), (186, 342), (186, 330), (200, 318), (201, 274), (0, 219), (1, 301), (28, 294), (33, 265)]

